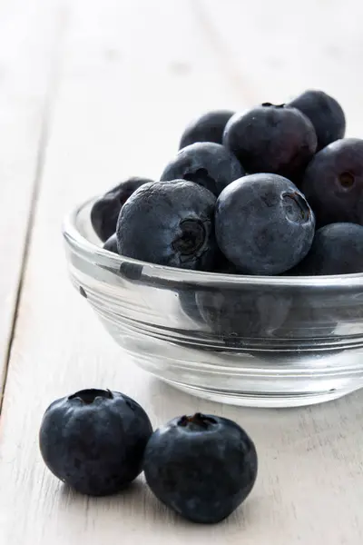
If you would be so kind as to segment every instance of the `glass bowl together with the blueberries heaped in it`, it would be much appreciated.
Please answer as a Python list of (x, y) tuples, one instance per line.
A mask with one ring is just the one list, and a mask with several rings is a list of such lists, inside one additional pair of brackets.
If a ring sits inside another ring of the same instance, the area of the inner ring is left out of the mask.
[(307, 92), (201, 117), (162, 180), (67, 216), (71, 280), (120, 372), (260, 407), (363, 386), (363, 148), (339, 108)]

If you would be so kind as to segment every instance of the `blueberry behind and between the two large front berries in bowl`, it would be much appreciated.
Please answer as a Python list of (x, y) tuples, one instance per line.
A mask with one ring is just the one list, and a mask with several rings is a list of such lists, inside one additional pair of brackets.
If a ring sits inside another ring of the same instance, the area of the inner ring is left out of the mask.
[(221, 144), (203, 142), (183, 148), (165, 167), (161, 180), (199, 183), (216, 197), (233, 180), (243, 176), (238, 159)]

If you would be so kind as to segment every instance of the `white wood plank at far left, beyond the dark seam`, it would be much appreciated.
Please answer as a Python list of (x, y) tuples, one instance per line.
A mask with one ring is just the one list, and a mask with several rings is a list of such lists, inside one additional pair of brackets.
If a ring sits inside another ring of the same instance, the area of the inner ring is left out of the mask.
[(54, 2), (0, 3), (0, 396), (62, 25), (59, 14)]

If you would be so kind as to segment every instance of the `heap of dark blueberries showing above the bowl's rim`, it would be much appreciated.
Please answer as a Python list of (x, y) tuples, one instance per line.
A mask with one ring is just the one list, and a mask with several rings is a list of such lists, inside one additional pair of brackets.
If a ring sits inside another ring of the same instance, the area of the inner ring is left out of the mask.
[(104, 248), (183, 269), (257, 275), (363, 272), (363, 140), (338, 102), (213, 111), (187, 126), (159, 181), (94, 204)]

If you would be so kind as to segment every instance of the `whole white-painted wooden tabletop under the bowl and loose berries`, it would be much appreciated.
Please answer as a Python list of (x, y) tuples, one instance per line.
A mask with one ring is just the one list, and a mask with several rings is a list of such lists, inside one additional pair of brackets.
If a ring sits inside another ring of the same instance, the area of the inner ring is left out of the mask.
[[(363, 125), (358, 0), (2, 0), (0, 3), (0, 543), (361, 545), (363, 391), (296, 410), (199, 401), (130, 367), (67, 277), (64, 213), (131, 174), (157, 177), (182, 127), (213, 107), (306, 87)], [(155, 426), (195, 410), (240, 422), (260, 474), (215, 527), (184, 522), (142, 479), (80, 497), (46, 471), (47, 405), (84, 387), (128, 393)]]

